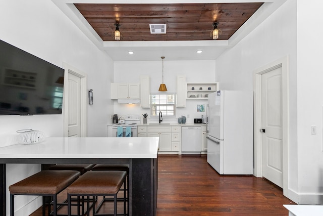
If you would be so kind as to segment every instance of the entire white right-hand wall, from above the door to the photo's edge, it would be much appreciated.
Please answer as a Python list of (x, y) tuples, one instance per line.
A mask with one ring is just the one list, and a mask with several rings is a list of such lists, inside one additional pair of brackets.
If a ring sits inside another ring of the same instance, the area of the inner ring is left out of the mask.
[[(253, 71), (289, 58), (289, 182), (300, 204), (323, 204), (322, 30), (317, 17), (323, 3), (289, 0), (246, 38), (217, 59), (222, 89), (252, 90)], [(306, 29), (306, 30), (305, 30)], [(309, 29), (312, 29), (309, 35)], [(317, 135), (310, 135), (310, 126)]]

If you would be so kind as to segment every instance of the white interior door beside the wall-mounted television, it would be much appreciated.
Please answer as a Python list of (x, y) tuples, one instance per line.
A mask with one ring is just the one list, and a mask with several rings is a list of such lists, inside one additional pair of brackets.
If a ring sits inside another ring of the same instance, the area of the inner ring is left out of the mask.
[(80, 137), (81, 78), (72, 73), (68, 77), (68, 136)]

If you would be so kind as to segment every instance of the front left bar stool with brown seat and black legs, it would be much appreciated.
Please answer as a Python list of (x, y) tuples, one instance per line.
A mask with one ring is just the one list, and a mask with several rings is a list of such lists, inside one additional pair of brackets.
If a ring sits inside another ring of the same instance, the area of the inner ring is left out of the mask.
[[(20, 182), (9, 186), (10, 191), (10, 215), (15, 214), (15, 195), (42, 196), (45, 203), (45, 196), (53, 199), (53, 215), (57, 215), (57, 194), (67, 188), (80, 176), (79, 171), (74, 170), (43, 170)], [(50, 205), (49, 207), (50, 208)], [(43, 216), (45, 205), (42, 206)], [(50, 209), (48, 210), (50, 211)]]

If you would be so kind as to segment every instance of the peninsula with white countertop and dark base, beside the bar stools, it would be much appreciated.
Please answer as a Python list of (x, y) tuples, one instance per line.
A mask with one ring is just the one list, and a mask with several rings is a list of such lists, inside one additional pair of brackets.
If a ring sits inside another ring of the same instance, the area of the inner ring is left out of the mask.
[(7, 163), (129, 164), (129, 215), (156, 215), (158, 138), (47, 138), (0, 148), (0, 214), (6, 215)]

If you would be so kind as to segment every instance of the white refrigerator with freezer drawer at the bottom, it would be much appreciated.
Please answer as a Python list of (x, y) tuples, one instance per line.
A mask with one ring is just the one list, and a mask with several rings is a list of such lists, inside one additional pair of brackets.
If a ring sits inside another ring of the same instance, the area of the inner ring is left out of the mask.
[(219, 174), (253, 174), (253, 92), (214, 92), (207, 106), (207, 162)]

